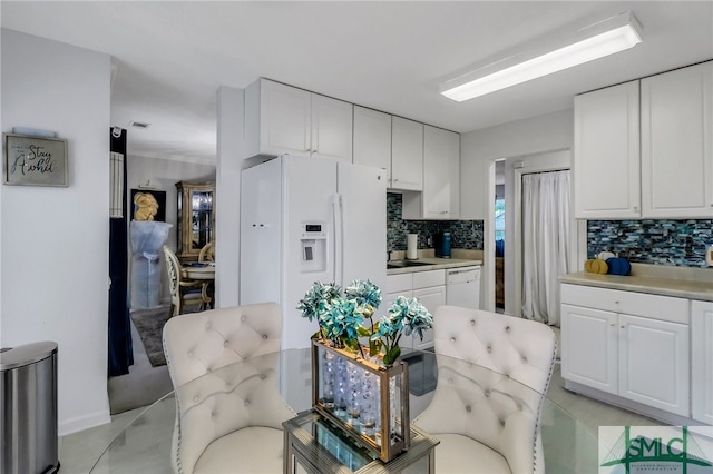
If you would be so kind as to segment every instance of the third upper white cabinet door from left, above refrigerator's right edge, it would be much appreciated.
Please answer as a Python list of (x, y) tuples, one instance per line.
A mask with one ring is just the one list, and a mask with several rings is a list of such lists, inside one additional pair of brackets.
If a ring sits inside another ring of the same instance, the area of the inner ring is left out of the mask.
[(387, 170), (391, 187), (391, 116), (354, 106), (354, 162)]

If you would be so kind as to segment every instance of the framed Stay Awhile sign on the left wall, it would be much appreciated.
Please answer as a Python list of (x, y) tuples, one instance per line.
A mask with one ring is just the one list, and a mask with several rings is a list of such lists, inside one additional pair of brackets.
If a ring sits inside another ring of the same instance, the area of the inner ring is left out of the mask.
[(6, 185), (68, 186), (67, 140), (2, 134)]

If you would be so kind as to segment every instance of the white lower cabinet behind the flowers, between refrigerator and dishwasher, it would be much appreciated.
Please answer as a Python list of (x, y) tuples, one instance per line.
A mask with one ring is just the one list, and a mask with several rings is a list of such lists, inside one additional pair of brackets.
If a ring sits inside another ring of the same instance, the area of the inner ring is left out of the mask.
[[(408, 285), (408, 286), (407, 286)], [(385, 314), (399, 296), (414, 297), (432, 315), (436, 308), (446, 304), (446, 270), (426, 270), (387, 276), (387, 296), (381, 303), (382, 314)], [(423, 334), (423, 340), (418, 336), (402, 336), (401, 347), (410, 349), (427, 349), (433, 346), (433, 329)]]

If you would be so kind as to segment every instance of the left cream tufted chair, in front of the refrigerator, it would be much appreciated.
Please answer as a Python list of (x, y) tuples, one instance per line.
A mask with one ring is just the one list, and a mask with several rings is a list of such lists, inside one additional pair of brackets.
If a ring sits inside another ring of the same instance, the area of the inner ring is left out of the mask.
[(175, 316), (164, 352), (175, 387), (176, 474), (281, 473), (279, 392), (282, 310), (274, 303)]

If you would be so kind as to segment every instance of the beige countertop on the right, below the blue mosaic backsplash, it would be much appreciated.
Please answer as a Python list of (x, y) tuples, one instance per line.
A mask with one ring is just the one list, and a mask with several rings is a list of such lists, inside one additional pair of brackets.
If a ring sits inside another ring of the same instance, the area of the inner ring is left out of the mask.
[(559, 280), (573, 285), (713, 302), (713, 270), (704, 268), (666, 267), (664, 269), (662, 266), (632, 264), (629, 276), (579, 271), (564, 275)]

